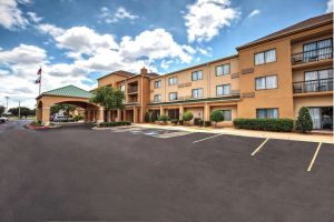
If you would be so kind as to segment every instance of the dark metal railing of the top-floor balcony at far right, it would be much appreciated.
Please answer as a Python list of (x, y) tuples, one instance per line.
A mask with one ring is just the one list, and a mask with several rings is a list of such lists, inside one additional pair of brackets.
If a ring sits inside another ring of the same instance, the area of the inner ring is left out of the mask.
[(333, 47), (325, 47), (315, 50), (292, 54), (292, 64), (314, 62), (333, 58)]

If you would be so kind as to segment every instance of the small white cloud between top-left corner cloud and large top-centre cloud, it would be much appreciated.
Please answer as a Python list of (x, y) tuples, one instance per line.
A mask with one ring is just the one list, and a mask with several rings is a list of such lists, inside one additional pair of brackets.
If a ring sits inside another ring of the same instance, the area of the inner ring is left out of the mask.
[(116, 10), (116, 12), (111, 12), (107, 7), (102, 7), (100, 9), (99, 18), (101, 19), (101, 21), (105, 21), (107, 23), (115, 23), (122, 19), (135, 20), (135, 19), (138, 19), (139, 17), (131, 14), (124, 7), (119, 7)]

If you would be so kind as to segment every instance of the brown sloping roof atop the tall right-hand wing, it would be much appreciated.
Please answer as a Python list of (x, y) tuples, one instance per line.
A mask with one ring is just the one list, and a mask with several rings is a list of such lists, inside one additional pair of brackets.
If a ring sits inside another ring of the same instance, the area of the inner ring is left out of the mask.
[(247, 47), (256, 46), (258, 43), (263, 43), (263, 42), (266, 42), (266, 41), (269, 41), (269, 40), (273, 40), (273, 39), (277, 39), (279, 37), (288, 36), (288, 34), (292, 34), (294, 32), (298, 32), (298, 31), (302, 31), (302, 30), (305, 30), (305, 29), (310, 29), (310, 28), (313, 28), (313, 27), (316, 27), (316, 26), (320, 26), (320, 24), (325, 24), (325, 23), (331, 23), (331, 22), (333, 23), (333, 13), (326, 13), (326, 14), (322, 14), (322, 16), (318, 16), (318, 17), (313, 17), (311, 19), (301, 21), (301, 22), (295, 23), (291, 27), (282, 29), (279, 31), (276, 31), (272, 34), (268, 34), (266, 37), (257, 39), (255, 41), (252, 41), (252, 42), (248, 42), (248, 43), (243, 44), (240, 47), (237, 47), (236, 49), (237, 50), (245, 49)]

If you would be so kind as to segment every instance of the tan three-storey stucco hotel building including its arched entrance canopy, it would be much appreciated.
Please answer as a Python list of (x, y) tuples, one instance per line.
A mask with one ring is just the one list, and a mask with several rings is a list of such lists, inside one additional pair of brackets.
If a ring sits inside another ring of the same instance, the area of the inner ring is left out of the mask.
[[(315, 129), (333, 128), (332, 13), (236, 49), (237, 54), (163, 75), (144, 68), (138, 74), (116, 71), (98, 79), (99, 88), (125, 92), (126, 110), (104, 111), (90, 104), (88, 95), (67, 94), (65, 100), (80, 104), (87, 121), (144, 122), (146, 112), (179, 119), (186, 111), (195, 120), (209, 120), (212, 111), (222, 110), (220, 124), (232, 125), (235, 118), (296, 119), (298, 110), (308, 107)], [(37, 99), (38, 119), (48, 121), (48, 107), (63, 100), (61, 94)]]

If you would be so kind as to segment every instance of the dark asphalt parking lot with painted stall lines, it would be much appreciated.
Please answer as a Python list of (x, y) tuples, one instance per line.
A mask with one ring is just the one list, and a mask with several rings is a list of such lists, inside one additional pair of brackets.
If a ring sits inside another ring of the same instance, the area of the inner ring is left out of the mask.
[(334, 221), (333, 144), (137, 127), (0, 139), (0, 221)]

